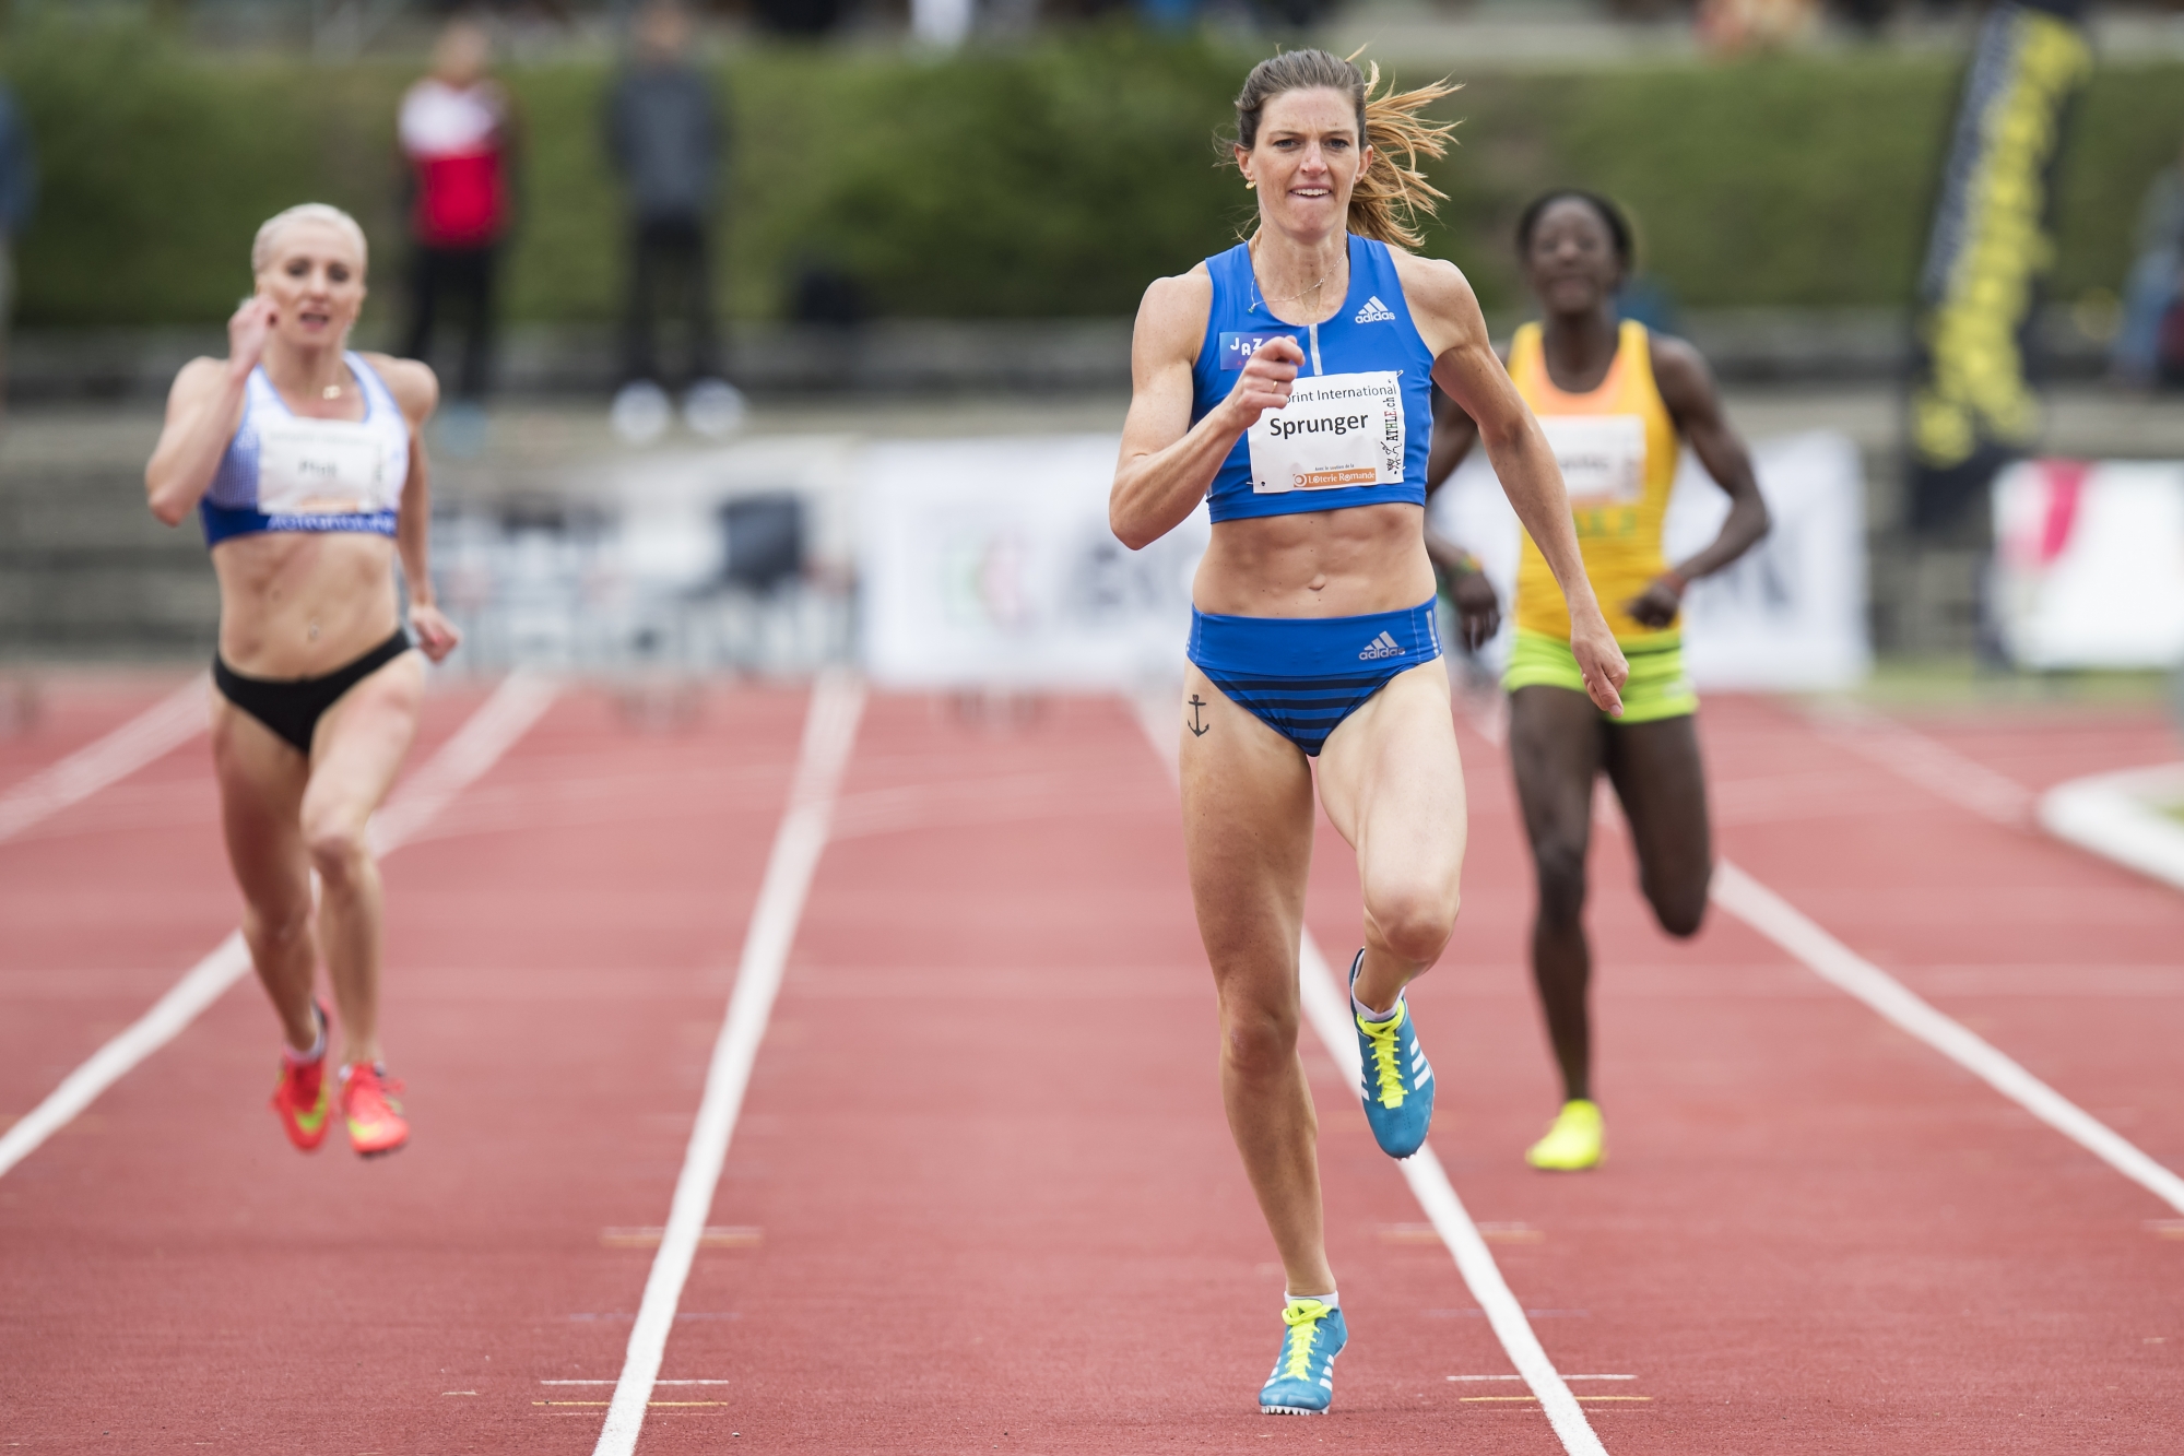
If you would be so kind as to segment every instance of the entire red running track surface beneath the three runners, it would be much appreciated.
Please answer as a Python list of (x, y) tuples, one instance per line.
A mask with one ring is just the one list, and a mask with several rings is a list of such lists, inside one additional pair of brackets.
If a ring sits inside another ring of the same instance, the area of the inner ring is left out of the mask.
[[(719, 692), (649, 733), (570, 694), (387, 862), (400, 1157), (280, 1142), (240, 989), (0, 1179), (0, 1441), (587, 1452), (802, 712)], [(1704, 723), (1728, 856), (2184, 1166), (2184, 899), (1782, 705)], [(2029, 788), (2175, 751), (2151, 714), (1922, 727)], [(2171, 1212), (1747, 928), (1660, 936), (1612, 836), (1612, 1159), (1527, 1170), (1553, 1109), (1531, 893), (1505, 768), (1465, 753), (1465, 919), (1415, 993), (1435, 1146), (1557, 1367), (1636, 1377), (1572, 1384), (1631, 1397), (1586, 1401), (1610, 1452), (2175, 1449)], [(173, 819), (100, 821), (157, 784)], [(876, 699), (843, 795), (662, 1369), (727, 1384), (655, 1388), (677, 1404), (642, 1452), (1559, 1449), (1500, 1399), (1522, 1384), (1448, 1380), (1509, 1367), (1317, 1048), (1354, 1345), (1332, 1419), (1254, 1412), (1280, 1273), (1221, 1124), (1173, 788), (1125, 705), (992, 727)], [(0, 845), (0, 1111), (227, 930), (210, 803), (199, 744)], [(1354, 882), (1321, 849), (1341, 958)]]

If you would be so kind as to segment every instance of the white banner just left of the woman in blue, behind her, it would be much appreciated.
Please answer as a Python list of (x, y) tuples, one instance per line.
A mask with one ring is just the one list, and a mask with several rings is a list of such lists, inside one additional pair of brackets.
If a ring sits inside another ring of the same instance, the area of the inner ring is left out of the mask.
[(860, 472), (865, 670), (891, 688), (1175, 677), (1206, 506), (1144, 550), (1107, 528), (1114, 434), (900, 441)]

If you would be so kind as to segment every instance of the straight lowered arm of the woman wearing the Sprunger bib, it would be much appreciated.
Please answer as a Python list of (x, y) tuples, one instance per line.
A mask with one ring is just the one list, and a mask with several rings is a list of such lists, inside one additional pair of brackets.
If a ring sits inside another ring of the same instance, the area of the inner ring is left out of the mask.
[(1540, 546), (1564, 600), (1570, 605), (1570, 653), (1586, 677), (1586, 692), (1610, 714), (1623, 714), (1623, 679), (1629, 664), (1623, 648), (1607, 631), (1607, 618), (1592, 596), (1592, 581), (1586, 578), (1586, 561), (1577, 552), (1577, 526), (1570, 522), (1570, 498), (1562, 487), (1562, 467), (1555, 452), (1546, 447), (1540, 421), (1524, 408), (1522, 395), (1509, 382), (1509, 371), (1494, 356), (1487, 341), (1487, 321), (1479, 312), (1479, 299), (1470, 282), (1450, 262), (1409, 258), (1389, 249), (1398, 260), (1404, 295), (1411, 301), (1411, 319), (1420, 336), (1433, 349), (1433, 382), (1472, 417), (1479, 441), (1487, 447), (1487, 461), (1503, 482), (1503, 493), (1516, 506), (1516, 517)]

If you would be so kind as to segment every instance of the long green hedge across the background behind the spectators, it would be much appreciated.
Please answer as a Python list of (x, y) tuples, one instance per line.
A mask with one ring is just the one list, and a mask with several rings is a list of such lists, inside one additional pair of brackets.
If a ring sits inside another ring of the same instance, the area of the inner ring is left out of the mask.
[[(732, 57), (732, 310), (780, 312), (804, 260), (887, 314), (1118, 314), (1249, 218), (1212, 133), (1254, 57), (1092, 28), (952, 59), (764, 48)], [(1396, 61), (1396, 57), (1382, 57)], [(354, 210), (400, 264), (393, 109), (406, 65), (197, 57), (133, 28), (17, 33), (4, 70), (44, 199), (20, 247), (28, 325), (221, 319), (266, 214)], [(1424, 81), (1428, 72), (1404, 81)], [(1459, 76), (1461, 79), (1461, 76)], [(509, 72), (529, 127), (509, 273), (522, 319), (607, 319), (620, 223), (598, 144), (603, 61)], [(1909, 288), (1955, 65), (1850, 55), (1485, 76), (1431, 249), (1516, 301), (1509, 225), (1551, 183), (1625, 199), (1688, 306), (1894, 303)], [(2184, 68), (2105, 70), (2064, 159), (2057, 288), (2116, 286), (2151, 172), (2184, 142)]]

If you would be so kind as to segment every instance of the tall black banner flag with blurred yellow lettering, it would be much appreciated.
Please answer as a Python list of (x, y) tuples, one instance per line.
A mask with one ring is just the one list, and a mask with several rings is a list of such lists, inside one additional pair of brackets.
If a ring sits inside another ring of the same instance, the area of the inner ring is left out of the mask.
[(1918, 284), (1911, 524), (1948, 528), (2040, 434), (2025, 354), (2055, 255), (2055, 157), (2092, 74), (2084, 0), (2001, 0), (1979, 26)]

